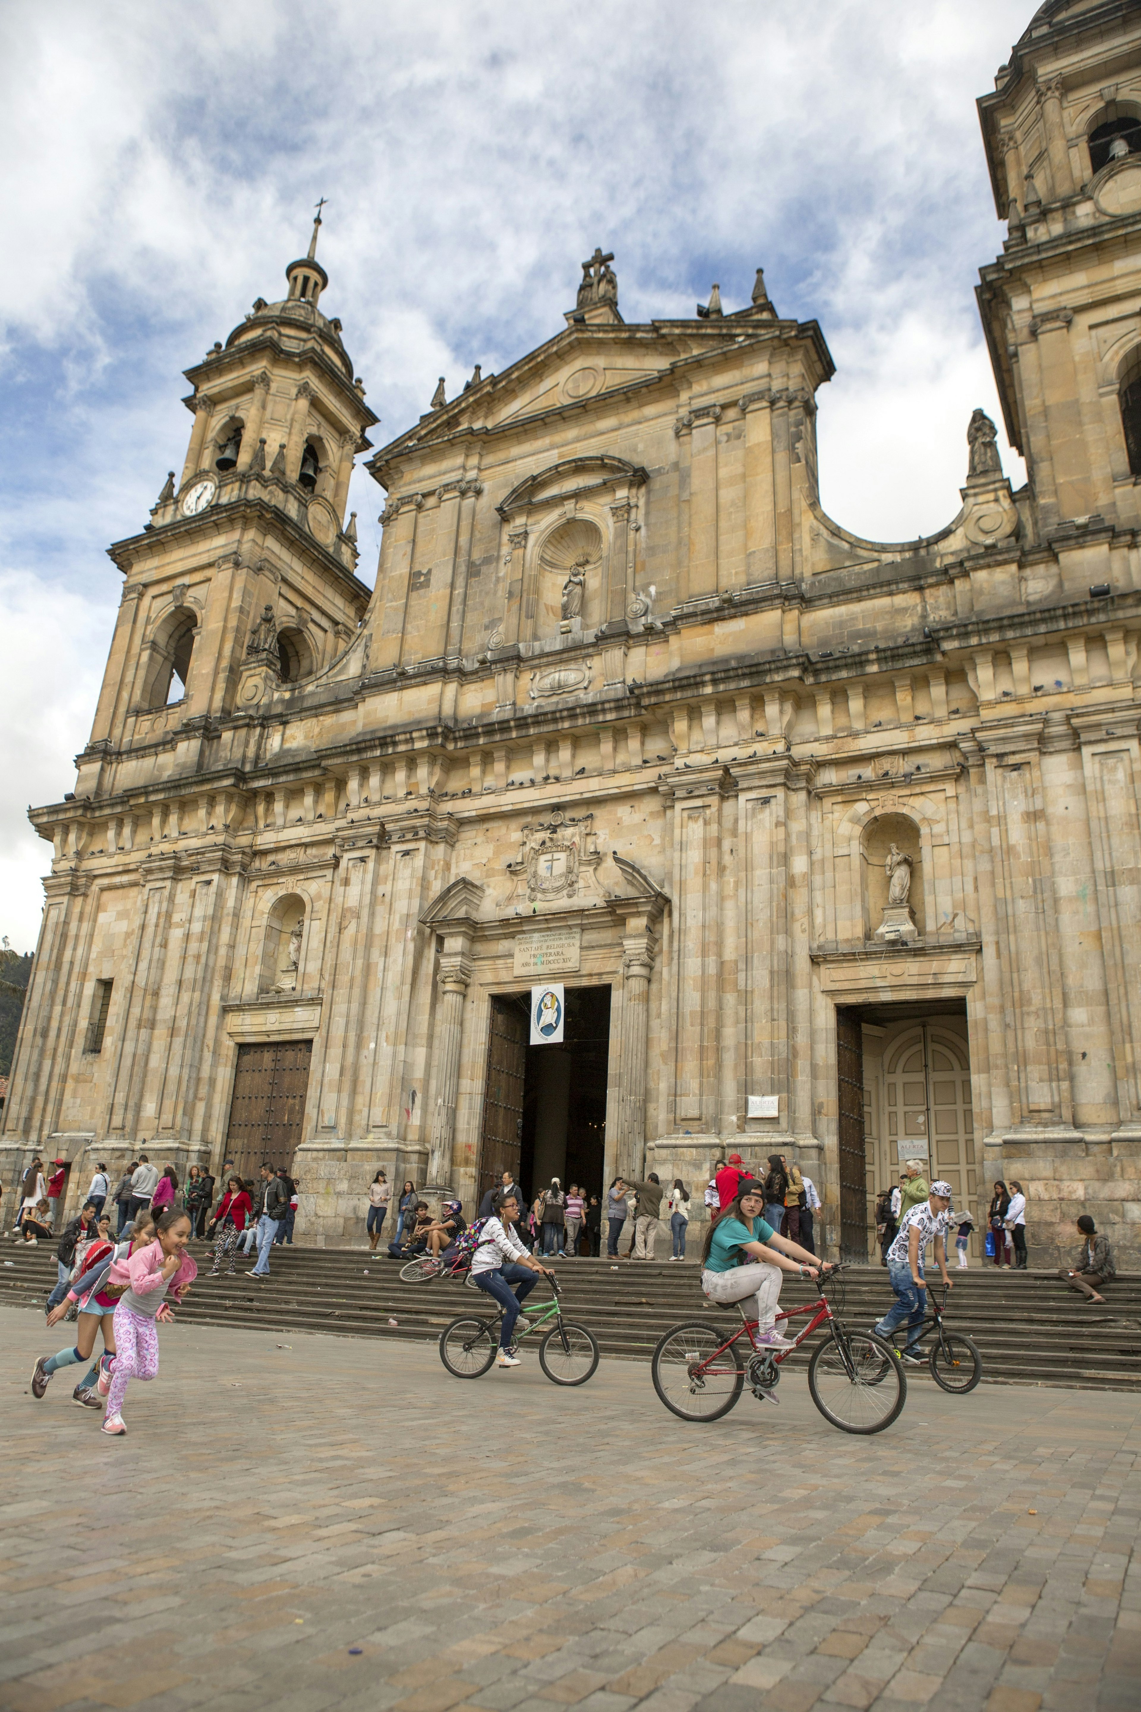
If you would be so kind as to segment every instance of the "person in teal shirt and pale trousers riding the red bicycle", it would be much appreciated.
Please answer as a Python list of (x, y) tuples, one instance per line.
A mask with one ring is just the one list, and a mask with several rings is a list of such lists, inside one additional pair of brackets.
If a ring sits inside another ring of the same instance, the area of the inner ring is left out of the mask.
[(746, 1310), (746, 1317), (758, 1322), (758, 1349), (790, 1349), (790, 1340), (775, 1330), (782, 1272), (818, 1279), (831, 1269), (821, 1267), (816, 1255), (799, 1243), (778, 1236), (761, 1217), (763, 1207), (761, 1183), (754, 1178), (737, 1183), (734, 1200), (705, 1233), (701, 1289), (717, 1303), (744, 1303), (753, 1296), (754, 1306)]

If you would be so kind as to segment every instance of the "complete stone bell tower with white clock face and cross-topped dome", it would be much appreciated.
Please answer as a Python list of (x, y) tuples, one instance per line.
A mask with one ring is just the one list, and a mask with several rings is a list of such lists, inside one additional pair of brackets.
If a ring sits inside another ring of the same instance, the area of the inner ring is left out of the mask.
[(77, 798), (127, 786), (125, 752), (133, 779), (140, 745), (156, 745), (164, 776), (238, 762), (243, 740), (217, 721), (301, 693), (356, 633), (368, 589), (346, 502), (376, 418), (340, 322), (318, 308), (320, 226), (318, 212), (287, 294), (257, 298), (186, 370), (181, 478), (171, 471), (144, 531), (109, 550), (125, 587)]

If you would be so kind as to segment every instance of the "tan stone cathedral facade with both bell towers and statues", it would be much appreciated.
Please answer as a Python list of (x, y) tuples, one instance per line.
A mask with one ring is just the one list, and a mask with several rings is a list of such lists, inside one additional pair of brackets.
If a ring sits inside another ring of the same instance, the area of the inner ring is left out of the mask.
[(919, 541), (823, 512), (831, 358), (760, 272), (631, 325), (597, 250), (546, 344), (373, 450), (315, 226), (111, 548), (5, 1180), (272, 1159), (339, 1245), (378, 1166), (469, 1210), (655, 1169), (700, 1212), (720, 1154), (785, 1152), (864, 1255), (919, 1157), (980, 1229), (1018, 1180), (1032, 1262), (1091, 1212), (1136, 1263), (1141, 5), (1049, 0), (978, 108), (1030, 479), (977, 411)]

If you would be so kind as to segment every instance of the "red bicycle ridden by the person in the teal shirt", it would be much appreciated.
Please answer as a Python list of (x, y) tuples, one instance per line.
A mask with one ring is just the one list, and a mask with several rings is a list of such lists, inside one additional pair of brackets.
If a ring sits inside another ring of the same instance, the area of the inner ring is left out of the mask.
[[(650, 1364), (653, 1388), (665, 1407), (683, 1421), (720, 1421), (741, 1397), (746, 1380), (754, 1397), (778, 1402), (782, 1363), (823, 1325), (828, 1337), (821, 1339), (807, 1364), (813, 1402), (842, 1433), (883, 1433), (907, 1402), (907, 1376), (886, 1339), (876, 1332), (855, 1332), (837, 1318), (826, 1293), (837, 1284), (843, 1287), (840, 1270), (833, 1267), (821, 1277), (818, 1301), (777, 1315), (778, 1327), (811, 1315), (790, 1349), (758, 1347), (758, 1322), (748, 1320), (737, 1303), (725, 1305), (736, 1306), (741, 1315), (741, 1325), (730, 1337), (701, 1320), (688, 1320), (665, 1332)], [(742, 1340), (744, 1349), (739, 1347)]]

